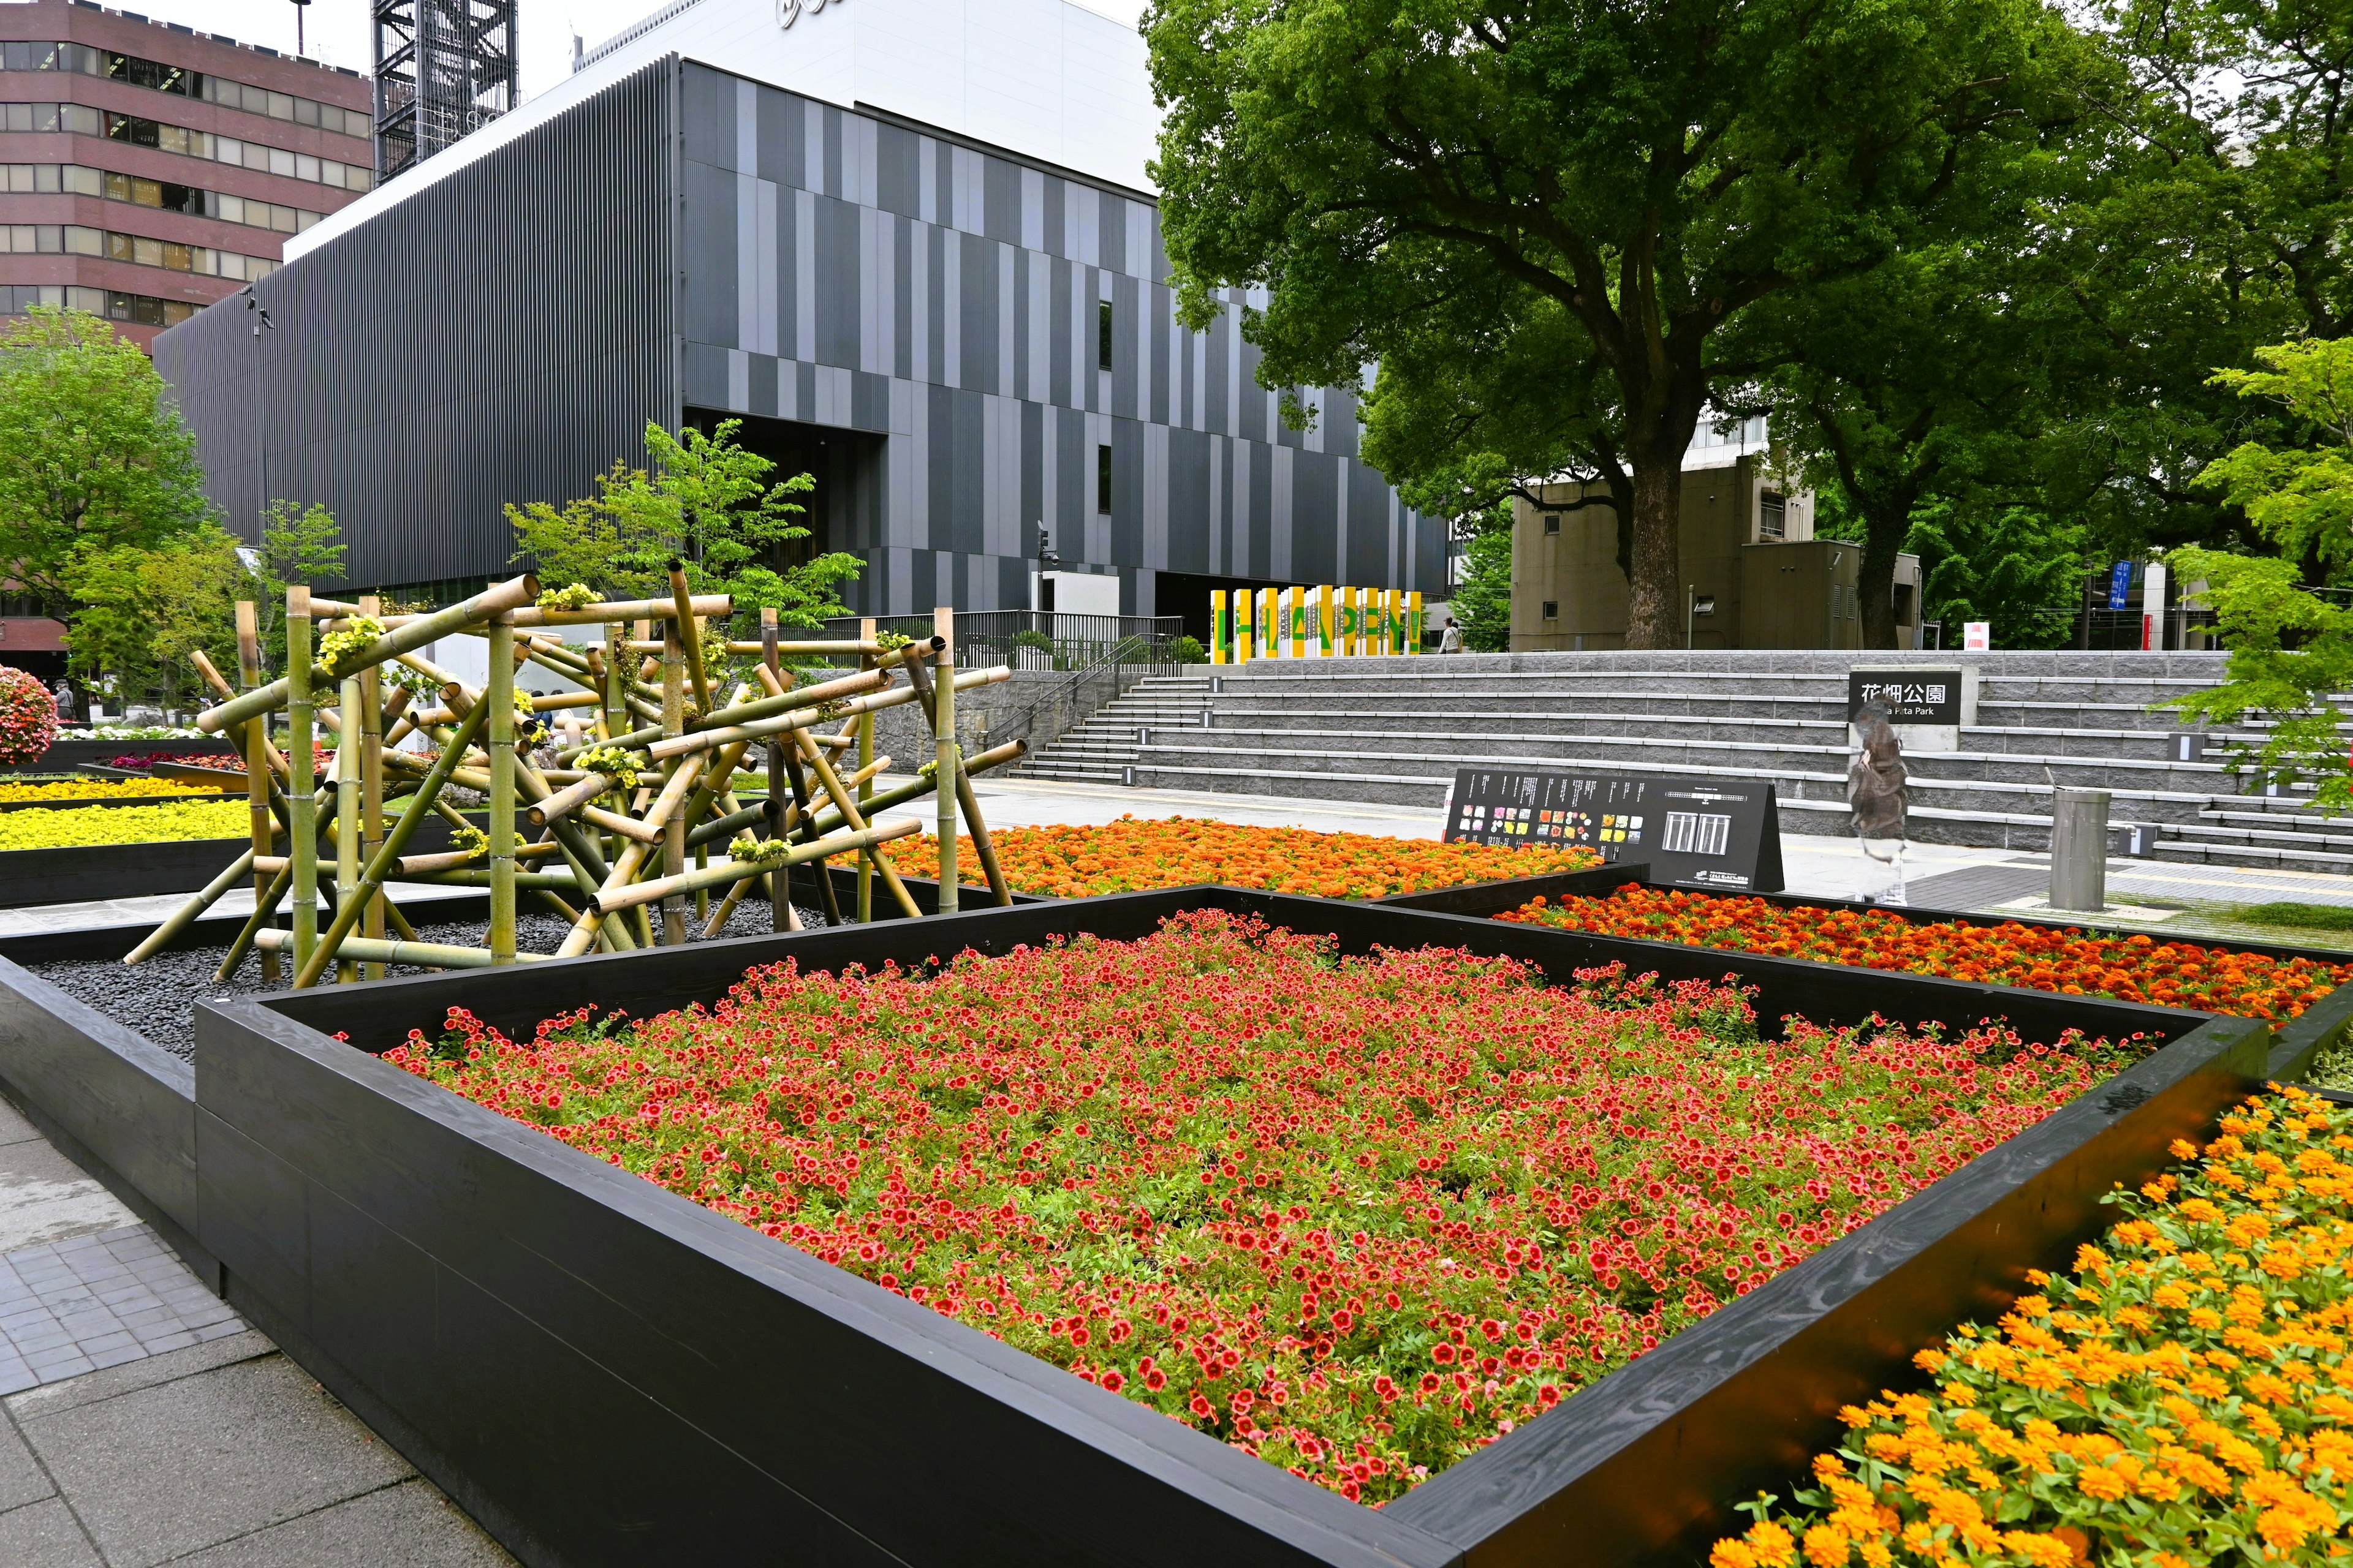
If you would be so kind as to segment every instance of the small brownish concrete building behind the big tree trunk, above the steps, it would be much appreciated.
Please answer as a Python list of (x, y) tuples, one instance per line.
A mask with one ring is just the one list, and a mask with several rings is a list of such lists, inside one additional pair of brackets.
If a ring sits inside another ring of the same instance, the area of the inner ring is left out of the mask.
[[(1511, 649), (1621, 649), (1631, 588), (1602, 484), (1513, 501)], [(1595, 501), (1600, 505), (1595, 505)], [(1814, 538), (1814, 494), (1765, 461), (1765, 421), (1701, 425), (1682, 461), (1680, 562), (1694, 649), (1864, 646), (1864, 548)], [(1897, 646), (1920, 646), (1920, 557), (1897, 557)]]

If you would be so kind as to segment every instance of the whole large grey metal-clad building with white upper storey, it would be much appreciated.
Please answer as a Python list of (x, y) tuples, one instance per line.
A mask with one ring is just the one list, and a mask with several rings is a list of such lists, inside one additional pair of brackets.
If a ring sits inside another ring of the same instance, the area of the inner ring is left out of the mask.
[[(1445, 527), (1285, 430), (1235, 315), (1176, 327), (1144, 42), (1064, 0), (680, 0), (304, 233), (158, 343), (212, 494), (322, 501), (353, 581), (501, 571), (508, 501), (744, 418), (816, 475), (852, 604), (1184, 614), (1209, 588), (1445, 592)], [(1240, 301), (1235, 301), (1240, 303)]]

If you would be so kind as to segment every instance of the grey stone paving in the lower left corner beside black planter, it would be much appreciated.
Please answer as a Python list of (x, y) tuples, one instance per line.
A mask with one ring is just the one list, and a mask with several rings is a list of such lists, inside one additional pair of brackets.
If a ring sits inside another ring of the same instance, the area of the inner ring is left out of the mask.
[(513, 1559), (0, 1103), (0, 1566)]

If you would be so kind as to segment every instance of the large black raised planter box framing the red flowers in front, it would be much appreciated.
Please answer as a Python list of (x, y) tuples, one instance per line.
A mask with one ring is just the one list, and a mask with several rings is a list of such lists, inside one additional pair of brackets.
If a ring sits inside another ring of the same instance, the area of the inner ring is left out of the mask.
[[(1224, 907), (1344, 950), (1739, 976), (1760, 1018), (2169, 1044), (1558, 1410), (1367, 1509), (374, 1060), (751, 964), (922, 964)], [(334, 1034), (348, 1034), (339, 1044)], [(2264, 1025), (1235, 889), (202, 1004), (186, 1227), (228, 1300), (529, 1563), (1642, 1563), (1786, 1488), (1835, 1408), (2094, 1234), (2259, 1081)], [(355, 1048), (353, 1048), (355, 1046)]]

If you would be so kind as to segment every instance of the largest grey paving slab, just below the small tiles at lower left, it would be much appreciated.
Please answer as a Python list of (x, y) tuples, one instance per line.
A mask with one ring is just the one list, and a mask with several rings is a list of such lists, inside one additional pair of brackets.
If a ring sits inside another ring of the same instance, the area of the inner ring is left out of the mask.
[(285, 1356), (16, 1420), (111, 1568), (151, 1568), (414, 1474)]

